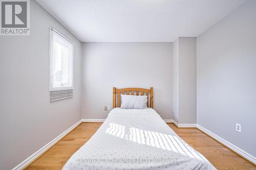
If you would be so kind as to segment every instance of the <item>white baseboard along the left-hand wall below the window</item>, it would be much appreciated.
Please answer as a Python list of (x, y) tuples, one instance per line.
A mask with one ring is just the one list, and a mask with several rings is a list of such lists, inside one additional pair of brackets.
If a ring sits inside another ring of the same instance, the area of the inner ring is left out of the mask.
[(36, 151), (34, 154), (29, 156), (27, 159), (25, 159), (23, 162), (19, 163), (17, 166), (12, 168), (12, 170), (21, 170), (24, 169), (26, 166), (28, 166), (31, 162), (33, 162), (35, 159), (37, 159), (39, 156), (41, 156), (45, 151), (47, 151), (49, 148), (51, 148), (54, 144), (56, 144), (62, 137), (67, 135), (69, 132), (71, 132), (73, 129), (75, 129), (82, 120), (79, 120), (76, 124), (71, 126), (69, 129), (67, 129), (65, 132), (58, 135), (55, 139), (47, 143), (44, 147)]

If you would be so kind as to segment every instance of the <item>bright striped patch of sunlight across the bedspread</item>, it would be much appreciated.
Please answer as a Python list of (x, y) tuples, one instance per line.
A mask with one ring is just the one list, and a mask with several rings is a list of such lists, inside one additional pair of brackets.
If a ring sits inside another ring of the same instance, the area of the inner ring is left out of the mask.
[(138, 128), (127, 129), (123, 125), (114, 123), (110, 123), (109, 125), (110, 127), (106, 130), (107, 134), (130, 140), (138, 144), (146, 144), (151, 147), (172, 151), (189, 156), (191, 158), (203, 160), (200, 154), (198, 154), (194, 149), (189, 147), (187, 143), (185, 143), (177, 136), (153, 131), (145, 131)]

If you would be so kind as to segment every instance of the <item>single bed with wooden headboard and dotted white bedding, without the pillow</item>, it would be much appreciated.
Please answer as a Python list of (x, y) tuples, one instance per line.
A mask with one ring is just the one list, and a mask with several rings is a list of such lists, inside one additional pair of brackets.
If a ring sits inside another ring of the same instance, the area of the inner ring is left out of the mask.
[[(121, 109), (120, 94), (147, 95), (148, 107)], [(62, 169), (216, 169), (182, 140), (153, 106), (153, 88), (113, 88), (112, 111)]]

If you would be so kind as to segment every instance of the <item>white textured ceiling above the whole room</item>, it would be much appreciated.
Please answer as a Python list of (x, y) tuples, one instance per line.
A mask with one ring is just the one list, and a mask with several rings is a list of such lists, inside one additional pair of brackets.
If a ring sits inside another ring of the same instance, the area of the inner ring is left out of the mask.
[(36, 0), (82, 42), (197, 37), (246, 0)]

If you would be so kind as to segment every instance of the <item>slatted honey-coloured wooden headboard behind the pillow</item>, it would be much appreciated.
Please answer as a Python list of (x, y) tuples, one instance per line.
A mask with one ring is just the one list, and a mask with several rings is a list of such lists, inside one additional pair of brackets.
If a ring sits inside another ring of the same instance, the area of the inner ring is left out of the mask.
[[(150, 89), (145, 88), (120, 88), (113, 87), (113, 109), (121, 106), (121, 94), (127, 95), (147, 95), (147, 107), (150, 103), (150, 107), (153, 109), (153, 87)], [(116, 106), (116, 95), (117, 95), (117, 106)], [(150, 100), (150, 102), (148, 102)]]

